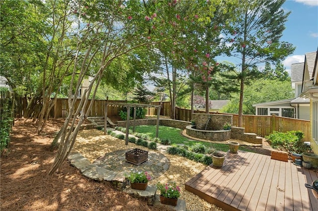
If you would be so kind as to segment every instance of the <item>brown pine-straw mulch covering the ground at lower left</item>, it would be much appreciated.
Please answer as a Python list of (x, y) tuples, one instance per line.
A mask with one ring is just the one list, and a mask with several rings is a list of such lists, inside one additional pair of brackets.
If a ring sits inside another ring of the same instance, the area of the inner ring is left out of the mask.
[(108, 184), (83, 177), (67, 161), (58, 173), (48, 175), (56, 155), (49, 151), (50, 143), (63, 122), (50, 119), (43, 133), (35, 135), (31, 120), (15, 121), (9, 149), (0, 160), (1, 211), (157, 210)]

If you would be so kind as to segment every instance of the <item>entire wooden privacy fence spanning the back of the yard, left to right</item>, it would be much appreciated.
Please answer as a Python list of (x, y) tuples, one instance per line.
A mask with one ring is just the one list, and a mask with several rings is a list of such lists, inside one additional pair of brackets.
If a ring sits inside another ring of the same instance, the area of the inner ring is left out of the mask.
[[(54, 99), (52, 99), (53, 101)], [(89, 100), (90, 101), (90, 100)], [(79, 105), (80, 99), (77, 100), (76, 108)], [(113, 100), (94, 100), (92, 109), (88, 116), (104, 116), (105, 105), (108, 103), (126, 103), (126, 101)], [(90, 102), (89, 102), (90, 103)], [(88, 103), (88, 105), (89, 105)], [(170, 102), (152, 102), (151, 105), (161, 105), (160, 115), (170, 116)], [(23, 105), (26, 107), (26, 104)], [(76, 109), (75, 108), (75, 109)], [(86, 109), (88, 106), (86, 107)], [(108, 106), (107, 116), (118, 116), (121, 106)], [(54, 118), (66, 117), (68, 112), (68, 99), (57, 99), (55, 106), (50, 111), (50, 116)], [(205, 111), (195, 110), (194, 113), (205, 113)], [(210, 112), (217, 113), (217, 112)], [(238, 126), (238, 114), (220, 113), (233, 115), (233, 126)], [(147, 115), (157, 115), (157, 108), (148, 107)], [(176, 107), (175, 117), (177, 120), (191, 121), (191, 110)], [(265, 116), (265, 115), (243, 115), (242, 127), (246, 133), (255, 133), (260, 137), (265, 137), (273, 131), (287, 132), (291, 130), (301, 130), (305, 134), (305, 141), (310, 141), (310, 121), (302, 119), (294, 119), (282, 116)]]

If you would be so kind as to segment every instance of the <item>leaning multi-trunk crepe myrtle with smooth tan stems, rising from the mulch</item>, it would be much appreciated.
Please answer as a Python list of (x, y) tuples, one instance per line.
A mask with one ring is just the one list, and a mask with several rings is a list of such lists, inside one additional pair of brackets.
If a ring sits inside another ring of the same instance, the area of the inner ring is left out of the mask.
[[(166, 34), (154, 27), (161, 25), (164, 29), (166, 21), (165, 17), (161, 16), (160, 10), (156, 9), (156, 5), (159, 4), (160, 1), (74, 0), (70, 4), (71, 7), (65, 8), (74, 12), (77, 41), (74, 42), (68, 115), (55, 138), (61, 138), (61, 141), (49, 174), (58, 170), (70, 154), (80, 125), (89, 114), (103, 76), (107, 78), (107, 75), (121, 71), (121, 69), (108, 68), (112, 61), (139, 47), (152, 46), (168, 39)], [(79, 87), (88, 74), (93, 75), (93, 78), (78, 104)], [(123, 77), (122, 80), (127, 78)], [(90, 104), (88, 104), (89, 96), (92, 98)], [(78, 107), (75, 109), (77, 104)], [(79, 118), (74, 118), (76, 116)]]

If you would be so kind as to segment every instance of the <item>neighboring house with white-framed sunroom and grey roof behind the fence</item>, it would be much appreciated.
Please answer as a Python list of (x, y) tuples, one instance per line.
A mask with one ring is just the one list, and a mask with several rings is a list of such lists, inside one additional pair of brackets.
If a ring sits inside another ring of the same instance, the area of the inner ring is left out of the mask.
[(254, 104), (256, 115), (285, 116), (310, 120), (310, 100), (299, 97), (302, 93), (304, 62), (291, 65), (291, 82), (295, 89), (295, 98)]

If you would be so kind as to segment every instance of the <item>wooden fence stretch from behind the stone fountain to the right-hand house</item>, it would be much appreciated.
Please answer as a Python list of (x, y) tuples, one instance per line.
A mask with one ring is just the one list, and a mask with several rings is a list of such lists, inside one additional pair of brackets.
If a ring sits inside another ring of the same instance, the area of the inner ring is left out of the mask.
[[(205, 113), (205, 111), (195, 110), (194, 113)], [(218, 112), (210, 112), (218, 113)], [(237, 127), (239, 122), (239, 114), (219, 113), (233, 115), (233, 126)], [(191, 121), (191, 110), (176, 107), (176, 119), (183, 121)], [(288, 118), (283, 116), (266, 116), (266, 115), (243, 115), (242, 127), (245, 133), (255, 133), (260, 137), (268, 136), (273, 131), (287, 132), (292, 130), (301, 130), (304, 132), (304, 141), (310, 141), (310, 121), (303, 119)]]

